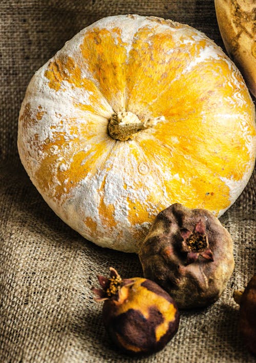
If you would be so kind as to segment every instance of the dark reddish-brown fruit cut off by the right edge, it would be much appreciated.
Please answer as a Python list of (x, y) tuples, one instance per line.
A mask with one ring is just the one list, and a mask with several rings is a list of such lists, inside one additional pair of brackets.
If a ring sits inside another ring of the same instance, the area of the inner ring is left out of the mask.
[(245, 290), (234, 291), (234, 300), (240, 305), (239, 328), (246, 347), (256, 354), (256, 275)]

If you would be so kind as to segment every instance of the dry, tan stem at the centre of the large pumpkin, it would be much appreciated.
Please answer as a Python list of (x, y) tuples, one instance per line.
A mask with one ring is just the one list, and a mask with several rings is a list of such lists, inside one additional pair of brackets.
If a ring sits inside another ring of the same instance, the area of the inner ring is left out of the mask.
[(114, 113), (108, 123), (109, 135), (114, 140), (126, 141), (132, 139), (133, 134), (156, 125), (160, 120), (164, 120), (164, 117), (161, 116), (141, 122), (138, 116), (130, 111)]

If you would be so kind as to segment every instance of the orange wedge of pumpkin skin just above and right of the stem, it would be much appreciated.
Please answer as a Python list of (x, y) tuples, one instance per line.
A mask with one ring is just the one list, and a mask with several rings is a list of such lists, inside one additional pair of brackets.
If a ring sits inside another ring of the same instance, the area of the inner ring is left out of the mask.
[(127, 74), (132, 77), (127, 78), (126, 109), (134, 113), (151, 111), (154, 117), (164, 115), (164, 103), (160, 103), (158, 110), (155, 102), (170, 89), (170, 84), (180, 77), (182, 70), (199, 55), (204, 45), (205, 40), (201, 40), (182, 50), (183, 46), (175, 42), (171, 32), (166, 30), (160, 34), (151, 28), (140, 29), (127, 63)]

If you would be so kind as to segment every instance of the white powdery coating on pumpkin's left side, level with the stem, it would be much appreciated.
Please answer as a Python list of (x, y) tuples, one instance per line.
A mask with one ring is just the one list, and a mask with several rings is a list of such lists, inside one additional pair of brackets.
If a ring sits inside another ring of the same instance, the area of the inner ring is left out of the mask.
[[(88, 151), (91, 145), (88, 145), (88, 141), (83, 138), (84, 129), (86, 129), (87, 123), (96, 120), (99, 125), (98, 132), (105, 131), (107, 120), (99, 115), (94, 115), (91, 112), (85, 112), (79, 110), (76, 106), (76, 102), (82, 101), (83, 104), (90, 105), (90, 93), (76, 89), (76, 92), (72, 89), (69, 82), (63, 81), (61, 88), (56, 92), (50, 89), (48, 86), (48, 79), (45, 78), (46, 66), (42, 67), (37, 76), (33, 77), (29, 94), (27, 95), (27, 102), (30, 103), (31, 118), (36, 119), (38, 111), (42, 113), (40, 120), (37, 120), (32, 127), (27, 127), (26, 134), (23, 134), (22, 143), (20, 142), (20, 153), (23, 149), (27, 149), (29, 152), (30, 160), (33, 162), (33, 166), (29, 167), (28, 174), (30, 177), (34, 177), (37, 169), (41, 165), (41, 161), (48, 157), (48, 154), (40, 150), (41, 145), (44, 145), (46, 140), (48, 142), (55, 142), (59, 135), (63, 135), (63, 138), (67, 142), (72, 142), (74, 139), (80, 139), (81, 151)], [(42, 92), (44, 90), (44, 92)], [(42, 94), (41, 94), (42, 93)], [(105, 102), (106, 104), (106, 102)], [(104, 104), (104, 105), (105, 105)], [(26, 103), (23, 103), (20, 114), (24, 112)], [(40, 106), (40, 110), (38, 109)], [(109, 106), (108, 116), (112, 114), (112, 109)], [(74, 119), (74, 123), (68, 121)], [(73, 124), (76, 127), (74, 132)], [(22, 134), (22, 132), (20, 132)], [(34, 146), (34, 140), (38, 147)], [(32, 145), (32, 146), (31, 146)], [(58, 161), (53, 161), (52, 173), (55, 183), (52, 184), (52, 188), (49, 191), (53, 196), (55, 195), (55, 186), (59, 185), (59, 181), (55, 174), (58, 170), (68, 170), (74, 155), (79, 150), (74, 149), (73, 156), (70, 157), (70, 144), (61, 145), (59, 148), (54, 145), (50, 150), (50, 155), (69, 155), (69, 158), (65, 160), (65, 169), (63, 166), (59, 166)], [(29, 162), (29, 161), (28, 161)], [(36, 183), (35, 183), (36, 184)], [(54, 185), (55, 184), (55, 185)], [(37, 186), (37, 184), (36, 184)]]

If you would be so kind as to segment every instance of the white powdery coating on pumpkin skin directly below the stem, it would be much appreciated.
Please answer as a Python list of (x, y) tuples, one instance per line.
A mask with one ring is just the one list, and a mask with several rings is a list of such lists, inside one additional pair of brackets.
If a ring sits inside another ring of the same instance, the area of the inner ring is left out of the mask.
[[(62, 205), (66, 217), (61, 210), (59, 214), (62, 219), (68, 219), (69, 225), (94, 243), (102, 247), (134, 252), (138, 250), (138, 242), (141, 242), (134, 238), (134, 232), (140, 231), (140, 234), (145, 236), (150, 223), (131, 225), (129, 200), (135, 204), (139, 201), (147, 210), (148, 215), (157, 215), (160, 210), (154, 203), (148, 201), (148, 196), (152, 190), (156, 190), (157, 193), (159, 178), (151, 173), (140, 174), (140, 163), (130, 151), (130, 145), (134, 145), (133, 141), (117, 142), (117, 144), (119, 147), (116, 147), (98, 172), (95, 175), (89, 173), (73, 189), (69, 199)], [(113, 227), (107, 227), (104, 223), (104, 218), (108, 219), (108, 216), (99, 214), (102, 200), (104, 205), (114, 207), (112, 217), (115, 220), (115, 226)], [(170, 204), (164, 188), (161, 190), (161, 200), (166, 206)], [(88, 224), (84, 223), (88, 218), (96, 223), (97, 238), (94, 238)]]

